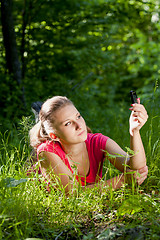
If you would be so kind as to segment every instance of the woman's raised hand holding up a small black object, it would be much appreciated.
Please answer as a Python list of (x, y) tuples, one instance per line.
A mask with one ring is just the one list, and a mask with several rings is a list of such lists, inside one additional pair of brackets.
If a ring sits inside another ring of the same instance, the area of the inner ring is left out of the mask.
[(140, 104), (140, 99), (137, 99), (137, 103), (132, 104), (130, 110), (132, 111), (130, 116), (130, 133), (133, 135), (133, 131), (139, 131), (141, 127), (146, 123), (148, 114), (145, 107)]

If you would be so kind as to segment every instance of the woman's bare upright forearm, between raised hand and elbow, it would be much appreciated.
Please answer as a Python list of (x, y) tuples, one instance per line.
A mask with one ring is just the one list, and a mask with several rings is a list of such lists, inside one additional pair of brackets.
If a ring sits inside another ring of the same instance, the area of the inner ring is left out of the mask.
[(129, 161), (131, 169), (138, 170), (146, 166), (146, 156), (139, 131), (134, 131), (133, 136), (130, 137), (130, 148), (135, 153)]

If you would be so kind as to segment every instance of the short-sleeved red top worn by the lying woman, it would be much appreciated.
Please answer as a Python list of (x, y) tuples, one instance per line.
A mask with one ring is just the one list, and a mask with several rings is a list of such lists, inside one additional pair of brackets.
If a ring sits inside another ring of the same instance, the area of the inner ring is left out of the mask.
[[(108, 138), (109, 137), (106, 137), (101, 133), (87, 134), (87, 139), (85, 143), (86, 143), (88, 156), (89, 156), (90, 169), (86, 177), (77, 176), (77, 180), (80, 181), (82, 186), (84, 186), (87, 183), (89, 184), (89, 183), (98, 182), (102, 178), (102, 167), (103, 167), (103, 161), (105, 158), (105, 154), (103, 150), (105, 150), (105, 146)], [(65, 165), (70, 169), (70, 171), (73, 173), (73, 170), (67, 159), (66, 153), (64, 152), (59, 142), (45, 141), (41, 143), (37, 148), (37, 157), (39, 153), (43, 151), (53, 152), (57, 154), (65, 163)]]

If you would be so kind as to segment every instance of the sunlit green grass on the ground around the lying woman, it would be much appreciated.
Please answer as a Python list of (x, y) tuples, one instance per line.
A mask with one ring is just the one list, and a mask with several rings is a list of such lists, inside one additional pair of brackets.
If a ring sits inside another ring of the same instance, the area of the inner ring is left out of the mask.
[[(142, 186), (124, 185), (116, 191), (77, 189), (67, 197), (51, 187), (48, 193), (42, 177), (26, 176), (30, 119), (23, 118), (18, 131), (1, 135), (0, 239), (160, 239), (159, 106), (152, 101), (148, 111), (150, 118), (141, 132), (148, 178)], [(119, 124), (113, 137), (122, 141), (123, 136), (125, 146), (126, 122)], [(107, 161), (104, 168), (104, 179), (117, 174)]]

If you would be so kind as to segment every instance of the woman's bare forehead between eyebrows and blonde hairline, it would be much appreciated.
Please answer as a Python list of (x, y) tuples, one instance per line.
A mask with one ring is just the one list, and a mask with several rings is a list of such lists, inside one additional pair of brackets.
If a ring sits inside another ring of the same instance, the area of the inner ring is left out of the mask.
[(69, 104), (65, 107), (61, 108), (60, 110), (56, 111), (55, 113), (55, 121), (57, 123), (62, 123), (66, 120), (71, 119), (78, 113), (78, 110), (75, 108), (74, 105)]

